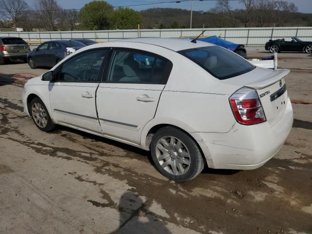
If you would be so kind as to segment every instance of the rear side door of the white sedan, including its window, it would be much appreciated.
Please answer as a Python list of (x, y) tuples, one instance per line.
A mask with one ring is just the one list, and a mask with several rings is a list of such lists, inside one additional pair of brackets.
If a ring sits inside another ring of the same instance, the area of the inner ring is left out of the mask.
[(103, 133), (139, 144), (143, 127), (155, 116), (171, 69), (171, 61), (163, 57), (115, 49), (97, 91)]

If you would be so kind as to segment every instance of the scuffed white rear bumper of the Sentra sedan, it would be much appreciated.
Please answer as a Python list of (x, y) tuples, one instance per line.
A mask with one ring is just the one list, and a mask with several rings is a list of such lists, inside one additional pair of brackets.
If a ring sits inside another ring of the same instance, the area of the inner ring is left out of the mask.
[(283, 146), (293, 122), (292, 105), (288, 99), (283, 117), (271, 126), (235, 123), (228, 133), (194, 133), (207, 159), (208, 166), (219, 169), (252, 170), (262, 166)]

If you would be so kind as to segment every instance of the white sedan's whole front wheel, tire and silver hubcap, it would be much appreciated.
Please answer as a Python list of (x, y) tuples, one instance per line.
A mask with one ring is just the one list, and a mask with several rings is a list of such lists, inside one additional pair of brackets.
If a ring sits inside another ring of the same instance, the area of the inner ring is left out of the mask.
[[(38, 97), (33, 98), (28, 106), (29, 114), (31, 115), (35, 125), (44, 132), (50, 132), (55, 129), (56, 124), (52, 121), (47, 108), (42, 100)], [(36, 118), (36, 120), (35, 120)], [(45, 121), (40, 121), (45, 119)]]

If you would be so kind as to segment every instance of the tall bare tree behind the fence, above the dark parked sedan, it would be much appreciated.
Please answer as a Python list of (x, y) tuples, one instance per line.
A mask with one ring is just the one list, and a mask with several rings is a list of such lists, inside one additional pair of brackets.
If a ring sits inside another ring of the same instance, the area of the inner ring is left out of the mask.
[(34, 0), (34, 7), (39, 11), (41, 28), (47, 31), (56, 31), (61, 22), (62, 8), (56, 0)]

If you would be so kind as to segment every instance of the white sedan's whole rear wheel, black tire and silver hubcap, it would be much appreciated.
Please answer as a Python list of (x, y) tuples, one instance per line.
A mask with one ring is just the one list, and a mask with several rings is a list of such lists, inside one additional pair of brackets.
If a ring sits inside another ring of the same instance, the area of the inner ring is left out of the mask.
[(157, 170), (177, 182), (193, 179), (205, 165), (196, 142), (174, 127), (163, 127), (156, 132), (151, 154)]

